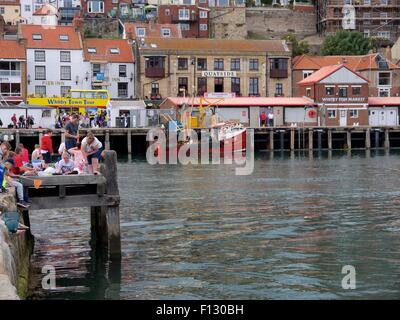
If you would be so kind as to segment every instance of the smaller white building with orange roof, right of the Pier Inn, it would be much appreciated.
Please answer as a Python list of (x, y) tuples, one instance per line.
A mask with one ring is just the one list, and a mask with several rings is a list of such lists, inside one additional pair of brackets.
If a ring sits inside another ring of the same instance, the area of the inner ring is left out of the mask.
[(84, 54), (91, 89), (107, 89), (111, 99), (135, 97), (135, 62), (128, 40), (85, 39)]

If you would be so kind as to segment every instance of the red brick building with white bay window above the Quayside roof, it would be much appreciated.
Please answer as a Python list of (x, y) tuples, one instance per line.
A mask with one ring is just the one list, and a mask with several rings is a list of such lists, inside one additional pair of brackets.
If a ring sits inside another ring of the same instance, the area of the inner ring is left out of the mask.
[(209, 9), (197, 5), (160, 5), (158, 23), (179, 25), (184, 38), (208, 38)]

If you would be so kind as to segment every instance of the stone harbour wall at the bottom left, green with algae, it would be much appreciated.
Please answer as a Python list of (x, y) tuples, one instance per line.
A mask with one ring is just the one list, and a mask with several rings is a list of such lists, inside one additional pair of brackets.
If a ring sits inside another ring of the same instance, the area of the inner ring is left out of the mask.
[[(0, 194), (0, 209), (17, 211), (15, 189)], [(33, 237), (30, 232), (11, 234), (0, 218), (0, 300), (25, 299), (28, 292)]]

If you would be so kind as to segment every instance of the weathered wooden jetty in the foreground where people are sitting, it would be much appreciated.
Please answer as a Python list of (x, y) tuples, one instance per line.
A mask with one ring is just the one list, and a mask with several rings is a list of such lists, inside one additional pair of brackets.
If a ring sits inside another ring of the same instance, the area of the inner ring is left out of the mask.
[[(24, 221), (35, 210), (90, 208), (92, 241), (107, 248), (111, 260), (121, 258), (117, 153), (106, 151), (101, 175), (21, 177), (32, 201)], [(49, 225), (49, 228), (51, 226)]]

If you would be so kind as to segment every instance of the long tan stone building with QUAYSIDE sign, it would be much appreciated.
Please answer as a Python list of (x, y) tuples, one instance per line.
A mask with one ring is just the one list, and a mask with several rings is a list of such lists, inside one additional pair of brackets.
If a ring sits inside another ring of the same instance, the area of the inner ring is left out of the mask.
[(142, 98), (291, 95), (291, 51), (281, 40), (147, 38), (135, 51)]

